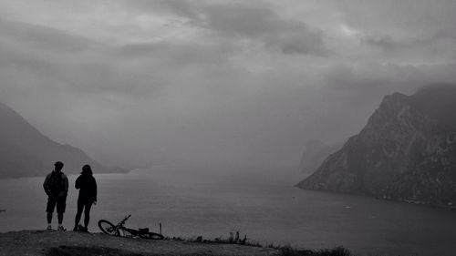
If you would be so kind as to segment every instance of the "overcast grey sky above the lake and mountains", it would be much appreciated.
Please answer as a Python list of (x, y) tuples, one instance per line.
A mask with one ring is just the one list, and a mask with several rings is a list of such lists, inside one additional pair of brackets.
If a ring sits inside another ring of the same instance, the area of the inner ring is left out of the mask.
[(0, 0), (0, 102), (112, 165), (293, 166), (456, 82), (452, 0)]

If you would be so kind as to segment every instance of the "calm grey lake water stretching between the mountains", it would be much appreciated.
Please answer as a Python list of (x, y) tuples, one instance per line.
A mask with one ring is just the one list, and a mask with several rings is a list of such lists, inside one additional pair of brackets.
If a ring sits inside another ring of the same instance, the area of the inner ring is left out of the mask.
[[(277, 177), (277, 173), (282, 173)], [(273, 175), (274, 174), (274, 175)], [(366, 255), (454, 255), (456, 212), (366, 197), (296, 189), (302, 177), (288, 170), (243, 172), (160, 167), (128, 174), (96, 175), (99, 219), (167, 236), (227, 237), (239, 230), (254, 241), (297, 247), (343, 245)], [(72, 228), (77, 190), (70, 195), (64, 225)], [(0, 179), (0, 231), (46, 227), (44, 178)], [(56, 220), (54, 220), (56, 221)]]

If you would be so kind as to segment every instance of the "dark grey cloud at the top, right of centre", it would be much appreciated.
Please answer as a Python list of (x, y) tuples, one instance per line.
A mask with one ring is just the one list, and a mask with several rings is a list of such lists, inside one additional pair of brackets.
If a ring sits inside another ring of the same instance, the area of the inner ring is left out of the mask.
[(304, 22), (281, 18), (272, 6), (207, 5), (203, 25), (221, 36), (248, 38), (279, 49), (284, 54), (326, 56), (323, 33)]

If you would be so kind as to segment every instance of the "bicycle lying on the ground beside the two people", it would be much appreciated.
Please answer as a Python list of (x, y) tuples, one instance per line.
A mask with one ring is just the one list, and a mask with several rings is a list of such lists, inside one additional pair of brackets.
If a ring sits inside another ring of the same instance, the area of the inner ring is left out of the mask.
[(98, 228), (103, 231), (103, 233), (118, 236), (118, 237), (130, 237), (130, 238), (141, 238), (148, 240), (162, 240), (164, 236), (159, 233), (150, 232), (149, 228), (133, 230), (124, 227), (125, 222), (129, 220), (131, 214), (125, 217), (117, 225), (112, 224), (108, 220), (98, 220)]

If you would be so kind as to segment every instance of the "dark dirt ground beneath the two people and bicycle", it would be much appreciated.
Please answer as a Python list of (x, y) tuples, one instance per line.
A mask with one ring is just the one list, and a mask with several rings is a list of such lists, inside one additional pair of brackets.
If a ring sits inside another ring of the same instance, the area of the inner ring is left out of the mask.
[(275, 255), (274, 249), (188, 241), (146, 241), (99, 233), (23, 230), (0, 233), (0, 256)]

